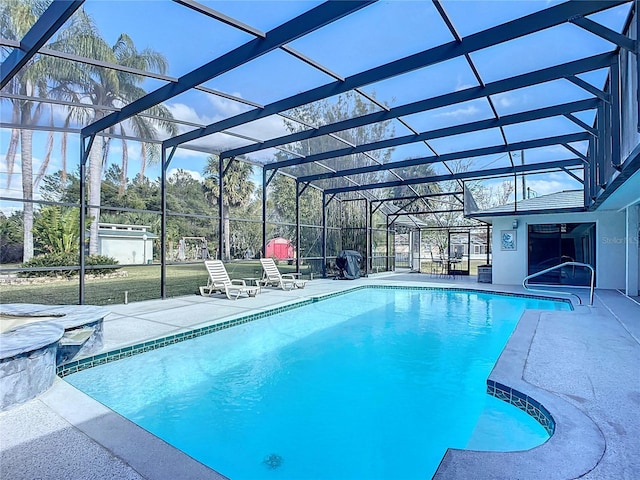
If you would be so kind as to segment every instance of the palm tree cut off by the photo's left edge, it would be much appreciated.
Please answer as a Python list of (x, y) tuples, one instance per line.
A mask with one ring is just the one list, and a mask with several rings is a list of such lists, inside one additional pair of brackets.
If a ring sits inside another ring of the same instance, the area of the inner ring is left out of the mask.
[[(21, 40), (49, 2), (38, 0), (2, 0), (0, 3), (0, 35), (12, 40)], [(30, 60), (5, 87), (13, 94), (22, 96), (43, 95), (46, 90), (46, 76), (38, 68), (40, 60)], [(5, 100), (3, 98), (3, 100)], [(24, 126), (35, 125), (42, 115), (42, 104), (32, 100), (9, 99), (12, 104), (12, 121)], [(20, 144), (20, 162), (22, 170), (23, 203), (23, 261), (33, 257), (33, 130), (13, 129), (6, 154), (7, 187), (15, 166), (15, 155)]]

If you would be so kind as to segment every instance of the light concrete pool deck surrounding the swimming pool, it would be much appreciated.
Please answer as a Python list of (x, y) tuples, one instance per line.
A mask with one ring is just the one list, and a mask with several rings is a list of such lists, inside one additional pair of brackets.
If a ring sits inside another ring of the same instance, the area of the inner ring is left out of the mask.
[[(213, 295), (114, 305), (104, 322), (104, 350), (381, 283), (523, 292), (478, 284), (474, 277), (453, 281), (396, 273), (353, 282), (313, 280), (305, 289), (286, 292), (265, 288), (255, 298), (237, 301)], [(616, 291), (596, 291), (593, 308), (527, 312), (492, 376), (550, 402), (550, 412), (560, 417), (556, 434), (528, 452), (450, 450), (437, 478), (640, 478), (639, 339), (640, 305)], [(224, 478), (63, 380), (0, 413), (0, 432), (2, 478)], [(582, 432), (578, 438), (576, 432)]]

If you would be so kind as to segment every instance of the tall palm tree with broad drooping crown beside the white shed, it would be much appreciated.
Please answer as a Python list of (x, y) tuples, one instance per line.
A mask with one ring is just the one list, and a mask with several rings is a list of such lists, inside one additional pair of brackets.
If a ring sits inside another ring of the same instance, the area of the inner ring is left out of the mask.
[[(60, 33), (51, 48), (142, 71), (164, 74), (167, 70), (167, 61), (160, 53), (149, 49), (138, 51), (131, 38), (126, 34), (121, 34), (115, 44), (109, 46), (100, 37), (93, 20), (83, 10), (76, 13), (70, 27)], [(145, 80), (143, 75), (106, 67), (66, 62), (65, 66), (59, 69), (56, 77), (58, 85), (52, 90), (52, 96), (88, 105), (87, 107), (72, 108), (69, 112), (69, 120), (79, 121), (83, 125), (95, 122), (110, 113), (113, 108), (121, 108), (146, 94), (146, 91), (140, 87), (140, 84)], [(156, 138), (159, 133), (158, 128), (172, 135), (177, 133), (177, 127), (171, 122), (173, 117), (165, 106), (156, 105), (147, 112), (160, 117), (161, 120), (134, 116), (126, 122), (111, 127), (107, 133), (124, 135), (131, 132), (142, 138)], [(90, 207), (88, 213), (93, 220), (90, 227), (90, 254), (98, 253), (100, 190), (102, 170), (108, 156), (109, 143), (110, 140), (105, 141), (103, 137), (97, 136), (89, 154)], [(148, 147), (143, 146), (142, 148), (144, 158)], [(120, 181), (122, 193), (127, 183), (127, 168), (128, 149), (123, 140), (122, 178)]]

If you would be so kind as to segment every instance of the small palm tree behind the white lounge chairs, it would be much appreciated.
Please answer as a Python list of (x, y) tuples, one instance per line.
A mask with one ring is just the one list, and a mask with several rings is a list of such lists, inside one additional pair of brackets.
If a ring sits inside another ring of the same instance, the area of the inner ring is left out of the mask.
[[(255, 189), (255, 184), (249, 180), (253, 172), (253, 166), (247, 162), (231, 160), (233, 163), (227, 169), (224, 176), (223, 202), (223, 253), (222, 260), (231, 260), (231, 232), (229, 221), (229, 208), (242, 207), (251, 201), (251, 194)], [(212, 204), (217, 204), (220, 198), (220, 184), (218, 183), (218, 157), (209, 155), (204, 174), (205, 195)]]

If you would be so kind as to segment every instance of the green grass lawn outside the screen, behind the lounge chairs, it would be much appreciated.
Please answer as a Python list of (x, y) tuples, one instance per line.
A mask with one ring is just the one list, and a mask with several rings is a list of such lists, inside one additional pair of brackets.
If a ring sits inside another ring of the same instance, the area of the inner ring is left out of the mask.
[[(258, 260), (226, 264), (232, 279), (260, 277), (262, 267)], [(280, 263), (282, 273), (295, 271), (295, 265)], [(110, 305), (124, 303), (125, 292), (129, 302), (160, 298), (160, 266), (141, 265), (123, 267), (128, 275), (117, 278), (87, 279), (85, 303)], [(304, 273), (304, 270), (303, 270)], [(207, 284), (208, 275), (202, 263), (167, 266), (167, 296), (177, 297), (198, 293), (198, 287)], [(50, 283), (0, 285), (2, 303), (44, 303), (47, 305), (74, 305), (78, 303), (79, 281), (53, 280)]]

